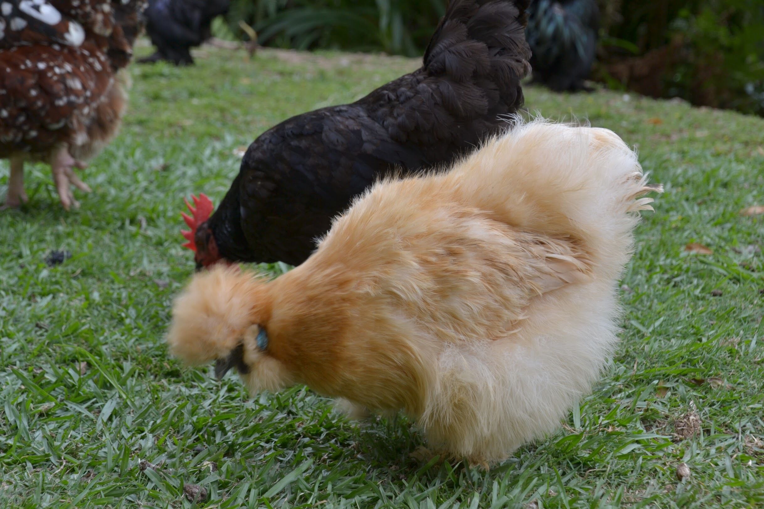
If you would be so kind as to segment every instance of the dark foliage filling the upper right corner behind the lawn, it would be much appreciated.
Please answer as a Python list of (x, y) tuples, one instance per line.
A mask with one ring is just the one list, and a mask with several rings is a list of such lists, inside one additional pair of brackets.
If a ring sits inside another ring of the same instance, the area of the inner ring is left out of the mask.
[(618, 4), (604, 23), (598, 79), (653, 97), (764, 114), (764, 2)]

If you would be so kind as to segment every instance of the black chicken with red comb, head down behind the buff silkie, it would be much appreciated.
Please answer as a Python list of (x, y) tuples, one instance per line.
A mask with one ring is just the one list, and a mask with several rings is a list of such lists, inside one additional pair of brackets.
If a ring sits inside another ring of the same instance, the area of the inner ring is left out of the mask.
[[(195, 201), (184, 232), (197, 267), (298, 265), (380, 176), (444, 166), (507, 125), (529, 72), (526, 0), (453, 0), (424, 65), (350, 104), (283, 121), (249, 146), (212, 217)], [(208, 220), (209, 217), (209, 220)]]

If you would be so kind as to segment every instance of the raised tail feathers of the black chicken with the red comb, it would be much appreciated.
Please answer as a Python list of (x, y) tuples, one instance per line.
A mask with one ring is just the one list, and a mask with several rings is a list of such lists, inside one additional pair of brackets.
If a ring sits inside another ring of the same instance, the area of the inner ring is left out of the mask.
[(528, 6), (529, 0), (452, 0), (448, 5), (427, 45), (424, 69), (439, 80), (444, 105), (453, 114), (511, 113), (522, 105), (520, 80), (530, 72)]

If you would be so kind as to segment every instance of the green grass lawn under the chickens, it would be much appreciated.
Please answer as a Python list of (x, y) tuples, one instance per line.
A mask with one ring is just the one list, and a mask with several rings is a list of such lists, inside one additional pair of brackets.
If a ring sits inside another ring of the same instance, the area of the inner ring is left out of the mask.
[[(764, 119), (526, 87), (530, 111), (638, 147), (666, 192), (637, 230), (623, 343), (594, 394), (490, 472), (422, 465), (403, 417), (354, 424), (306, 388), (250, 398), (235, 375), (183, 369), (163, 340), (193, 273), (183, 197), (219, 201), (238, 147), (418, 63), (198, 54), (192, 68), (132, 67), (131, 109), (84, 172), (79, 211), (30, 166), (30, 203), (0, 212), (0, 504), (189, 507), (183, 486), (200, 485), (207, 507), (762, 507), (764, 215), (739, 212), (764, 205)], [(49, 267), (50, 250), (73, 256)]]

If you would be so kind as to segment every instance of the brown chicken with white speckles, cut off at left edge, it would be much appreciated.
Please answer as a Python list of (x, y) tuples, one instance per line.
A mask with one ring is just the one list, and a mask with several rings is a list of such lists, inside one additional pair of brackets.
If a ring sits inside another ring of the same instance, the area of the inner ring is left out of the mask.
[(0, 2), (0, 158), (11, 166), (5, 207), (27, 201), (29, 160), (50, 163), (68, 210), (78, 205), (72, 185), (90, 191), (74, 168), (83, 168), (121, 123), (128, 85), (123, 69), (145, 0), (7, 3)]

